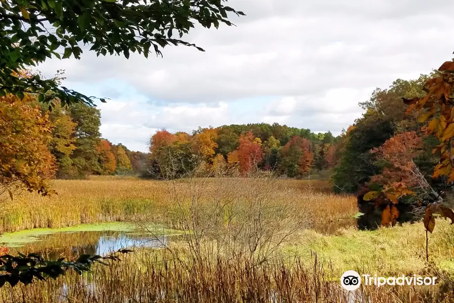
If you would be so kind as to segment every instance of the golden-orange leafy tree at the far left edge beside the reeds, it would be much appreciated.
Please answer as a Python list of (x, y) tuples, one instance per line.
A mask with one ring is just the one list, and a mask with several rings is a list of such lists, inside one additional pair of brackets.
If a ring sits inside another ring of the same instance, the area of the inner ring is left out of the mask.
[(47, 115), (30, 106), (33, 98), (8, 94), (0, 97), (0, 194), (22, 189), (53, 193), (46, 182), (53, 176), (55, 158), (48, 144), (52, 124)]

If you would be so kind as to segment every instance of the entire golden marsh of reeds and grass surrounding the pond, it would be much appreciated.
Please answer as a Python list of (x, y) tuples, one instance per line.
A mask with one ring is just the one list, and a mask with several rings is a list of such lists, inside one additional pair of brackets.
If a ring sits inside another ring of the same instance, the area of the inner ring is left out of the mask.
[[(124, 221), (135, 222), (137, 234), (153, 233), (147, 227), (153, 223), (179, 235), (164, 249), (139, 248), (89, 274), (6, 285), (0, 302), (447, 303), (454, 297), (453, 271), (447, 271), (454, 268), (454, 228), (437, 223), (426, 263), (421, 223), (358, 231), (356, 197), (330, 193), (327, 182), (91, 177), (52, 185), (57, 195), (25, 194), (8, 204), (0, 215), (2, 231)], [(59, 254), (70, 256), (73, 242), (88, 247), (97, 239), (91, 232), (56, 233), (22, 249), (60, 246)], [(346, 292), (339, 277), (350, 269), (436, 275), (442, 283)]]

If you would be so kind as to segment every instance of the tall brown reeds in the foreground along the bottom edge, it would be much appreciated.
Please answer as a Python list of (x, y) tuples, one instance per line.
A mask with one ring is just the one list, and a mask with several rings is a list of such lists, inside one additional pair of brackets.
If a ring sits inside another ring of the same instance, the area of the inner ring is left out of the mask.
[(96, 266), (89, 276), (74, 273), (56, 280), (0, 288), (10, 302), (448, 302), (435, 288), (361, 286), (341, 288), (338, 276), (314, 258), (273, 260), (254, 266), (247, 260), (170, 260), (159, 254), (136, 253), (111, 267)]

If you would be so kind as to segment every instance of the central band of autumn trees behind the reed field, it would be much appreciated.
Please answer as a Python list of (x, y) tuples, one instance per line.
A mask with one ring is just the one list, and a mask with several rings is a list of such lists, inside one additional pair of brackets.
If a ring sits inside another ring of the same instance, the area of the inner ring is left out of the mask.
[(255, 169), (302, 178), (334, 167), (338, 138), (330, 131), (256, 123), (223, 125), (186, 132), (158, 130), (149, 141), (149, 176), (181, 177), (196, 165), (206, 171), (234, 169), (247, 175)]

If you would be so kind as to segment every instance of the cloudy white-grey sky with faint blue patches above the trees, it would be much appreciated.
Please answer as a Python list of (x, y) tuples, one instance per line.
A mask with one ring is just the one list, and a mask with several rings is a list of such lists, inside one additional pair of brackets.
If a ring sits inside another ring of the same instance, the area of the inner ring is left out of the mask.
[(101, 133), (147, 150), (157, 129), (278, 122), (314, 132), (347, 128), (375, 87), (428, 73), (454, 51), (450, 0), (229, 0), (236, 27), (197, 27), (186, 40), (139, 54), (49, 60), (46, 76), (100, 104)]

